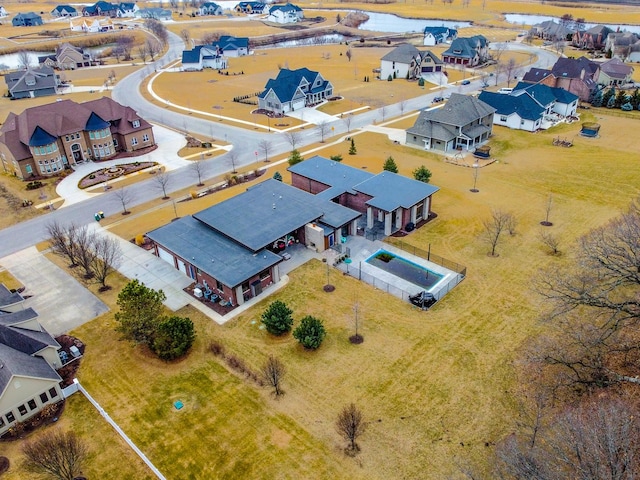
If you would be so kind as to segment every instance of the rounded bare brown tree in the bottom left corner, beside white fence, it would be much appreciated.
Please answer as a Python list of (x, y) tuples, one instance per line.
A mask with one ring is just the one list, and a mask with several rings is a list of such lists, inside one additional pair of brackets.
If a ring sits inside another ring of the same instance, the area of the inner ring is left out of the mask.
[(73, 480), (82, 473), (88, 449), (73, 432), (52, 431), (24, 444), (24, 466), (57, 480)]

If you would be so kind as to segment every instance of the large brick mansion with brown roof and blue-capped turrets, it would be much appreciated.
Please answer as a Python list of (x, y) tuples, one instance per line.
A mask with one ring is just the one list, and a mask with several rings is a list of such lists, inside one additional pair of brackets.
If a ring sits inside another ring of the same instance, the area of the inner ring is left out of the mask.
[(22, 179), (54, 176), (78, 162), (108, 160), (153, 146), (151, 124), (108, 97), (27, 108), (10, 113), (0, 127), (4, 171)]

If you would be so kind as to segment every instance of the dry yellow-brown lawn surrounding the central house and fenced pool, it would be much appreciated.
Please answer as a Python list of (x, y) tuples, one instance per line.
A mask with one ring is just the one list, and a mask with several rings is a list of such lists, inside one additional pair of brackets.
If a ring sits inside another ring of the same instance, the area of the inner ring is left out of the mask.
[[(442, 478), (455, 472), (456, 459), (482, 460), (491, 451), (485, 442), (491, 445), (509, 431), (514, 361), (542, 328), (532, 278), (540, 268), (562, 268), (578, 236), (638, 195), (640, 146), (625, 133), (632, 121), (583, 116), (601, 123), (601, 138), (579, 137), (579, 123), (534, 135), (497, 127), (491, 145), (499, 161), (480, 171), (477, 194), (469, 192), (471, 169), (398, 147), (381, 135), (355, 135), (355, 156), (347, 154), (347, 142), (320, 153), (341, 153), (345, 163), (373, 172), (393, 155), (405, 175), (422, 164), (433, 172), (441, 188), (433, 206), (438, 217), (404, 240), (431, 245), (466, 265), (468, 276), (431, 311), (417, 311), (334, 271), (337, 290), (326, 294), (325, 266), (312, 262), (268, 301), (225, 326), (191, 308), (180, 312), (199, 332), (193, 352), (180, 362), (159, 362), (118, 341), (111, 314), (81, 327), (74, 333), (92, 352), (80, 372), (83, 384), (171, 478), (382, 479), (423, 477), (426, 471), (427, 478)], [(552, 146), (558, 135), (575, 146)], [(244, 187), (181, 203), (179, 215)], [(560, 257), (549, 256), (538, 237), (549, 195), (550, 231), (561, 238)], [(501, 241), (497, 258), (487, 256), (479, 239), (492, 208), (513, 212), (519, 221), (517, 234)], [(139, 213), (112, 231), (132, 238), (173, 217), (169, 204)], [(312, 314), (325, 321), (329, 334), (320, 350), (305, 352), (292, 338), (274, 339), (258, 328), (262, 309), (274, 299), (287, 302), (297, 319)], [(365, 336), (360, 346), (347, 340), (356, 301)], [(267, 390), (229, 373), (207, 352), (213, 338), (254, 369), (268, 354), (278, 355), (288, 368), (285, 396), (275, 401)], [(146, 388), (136, 387), (141, 384)], [(179, 413), (171, 406), (178, 399), (186, 404)], [(344, 456), (333, 427), (339, 408), (350, 401), (370, 422), (355, 460)]]

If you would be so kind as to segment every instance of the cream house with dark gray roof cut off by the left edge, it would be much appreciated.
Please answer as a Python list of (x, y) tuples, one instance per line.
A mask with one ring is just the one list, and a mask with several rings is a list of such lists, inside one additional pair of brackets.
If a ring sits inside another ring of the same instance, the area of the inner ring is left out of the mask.
[(23, 302), (0, 285), (0, 435), (63, 399), (60, 344)]

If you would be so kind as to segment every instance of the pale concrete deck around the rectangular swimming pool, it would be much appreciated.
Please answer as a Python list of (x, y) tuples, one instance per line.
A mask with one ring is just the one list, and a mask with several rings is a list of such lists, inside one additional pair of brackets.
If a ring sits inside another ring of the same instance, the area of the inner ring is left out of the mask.
[(387, 252), (393, 253), (398, 257), (405, 258), (417, 265), (420, 265), (423, 268), (437, 273), (438, 275), (442, 275), (442, 279), (438, 283), (427, 289), (428, 292), (433, 293), (438, 298), (440, 297), (438, 295), (440, 290), (444, 288), (444, 286), (448, 285), (449, 282), (453, 281), (456, 276), (458, 276), (458, 273), (454, 271), (448, 270), (422, 257), (418, 257), (409, 252), (405, 252), (404, 250), (401, 250), (391, 244), (384, 243), (379, 240), (371, 242), (370, 240), (366, 240), (363, 237), (349, 237), (349, 240), (344, 246), (349, 248), (350, 250), (352, 263), (350, 265), (341, 263), (339, 265), (340, 270), (349, 272), (351, 275), (353, 275), (353, 272), (355, 271), (355, 276), (357, 276), (358, 268), (361, 268), (363, 273), (369, 274), (372, 277), (393, 285), (394, 287), (403, 290), (410, 295), (420, 293), (421, 291), (425, 290), (425, 288), (420, 285), (408, 282), (407, 280), (397, 277), (392, 273), (386, 272), (381, 268), (367, 263), (367, 258), (376, 253), (378, 250), (386, 250)]

